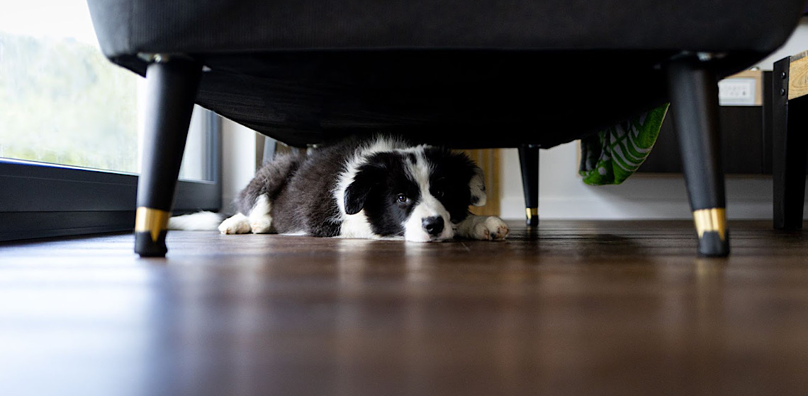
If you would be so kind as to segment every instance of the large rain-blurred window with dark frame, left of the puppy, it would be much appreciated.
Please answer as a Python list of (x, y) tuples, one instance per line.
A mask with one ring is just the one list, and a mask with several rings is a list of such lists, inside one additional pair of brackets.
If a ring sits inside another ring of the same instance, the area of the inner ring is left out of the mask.
[[(144, 80), (101, 54), (84, 0), (0, 14), (0, 240), (129, 230)], [(217, 210), (217, 115), (197, 107), (175, 208)]]

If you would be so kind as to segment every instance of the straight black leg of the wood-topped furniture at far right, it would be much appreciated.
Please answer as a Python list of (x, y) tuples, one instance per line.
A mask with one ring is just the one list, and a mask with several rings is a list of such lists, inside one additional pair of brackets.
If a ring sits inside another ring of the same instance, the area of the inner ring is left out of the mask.
[(791, 56), (774, 64), (772, 76), (772, 179), (774, 227), (802, 228), (808, 154), (808, 96), (789, 92)]

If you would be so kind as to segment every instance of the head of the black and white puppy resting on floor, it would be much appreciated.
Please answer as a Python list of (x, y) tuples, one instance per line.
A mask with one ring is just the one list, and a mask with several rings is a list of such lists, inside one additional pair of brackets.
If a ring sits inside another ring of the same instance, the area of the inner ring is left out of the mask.
[(418, 242), (451, 239), (469, 205), (485, 202), (482, 170), (464, 154), (427, 146), (368, 156), (344, 191), (346, 214), (364, 211), (373, 233)]

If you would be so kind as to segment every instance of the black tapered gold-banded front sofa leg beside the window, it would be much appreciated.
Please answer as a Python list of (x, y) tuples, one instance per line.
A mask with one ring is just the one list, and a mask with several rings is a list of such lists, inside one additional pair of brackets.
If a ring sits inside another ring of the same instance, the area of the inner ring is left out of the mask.
[(165, 256), (166, 228), (202, 66), (154, 56), (146, 71), (147, 102), (141, 175), (137, 181), (135, 252)]

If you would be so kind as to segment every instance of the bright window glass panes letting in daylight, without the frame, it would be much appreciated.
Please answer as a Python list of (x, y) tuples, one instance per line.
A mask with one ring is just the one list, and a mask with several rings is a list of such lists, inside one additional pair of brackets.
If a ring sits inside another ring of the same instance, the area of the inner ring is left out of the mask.
[[(145, 81), (101, 54), (85, 0), (0, 0), (0, 158), (140, 170)], [(210, 180), (191, 121), (180, 178)]]

